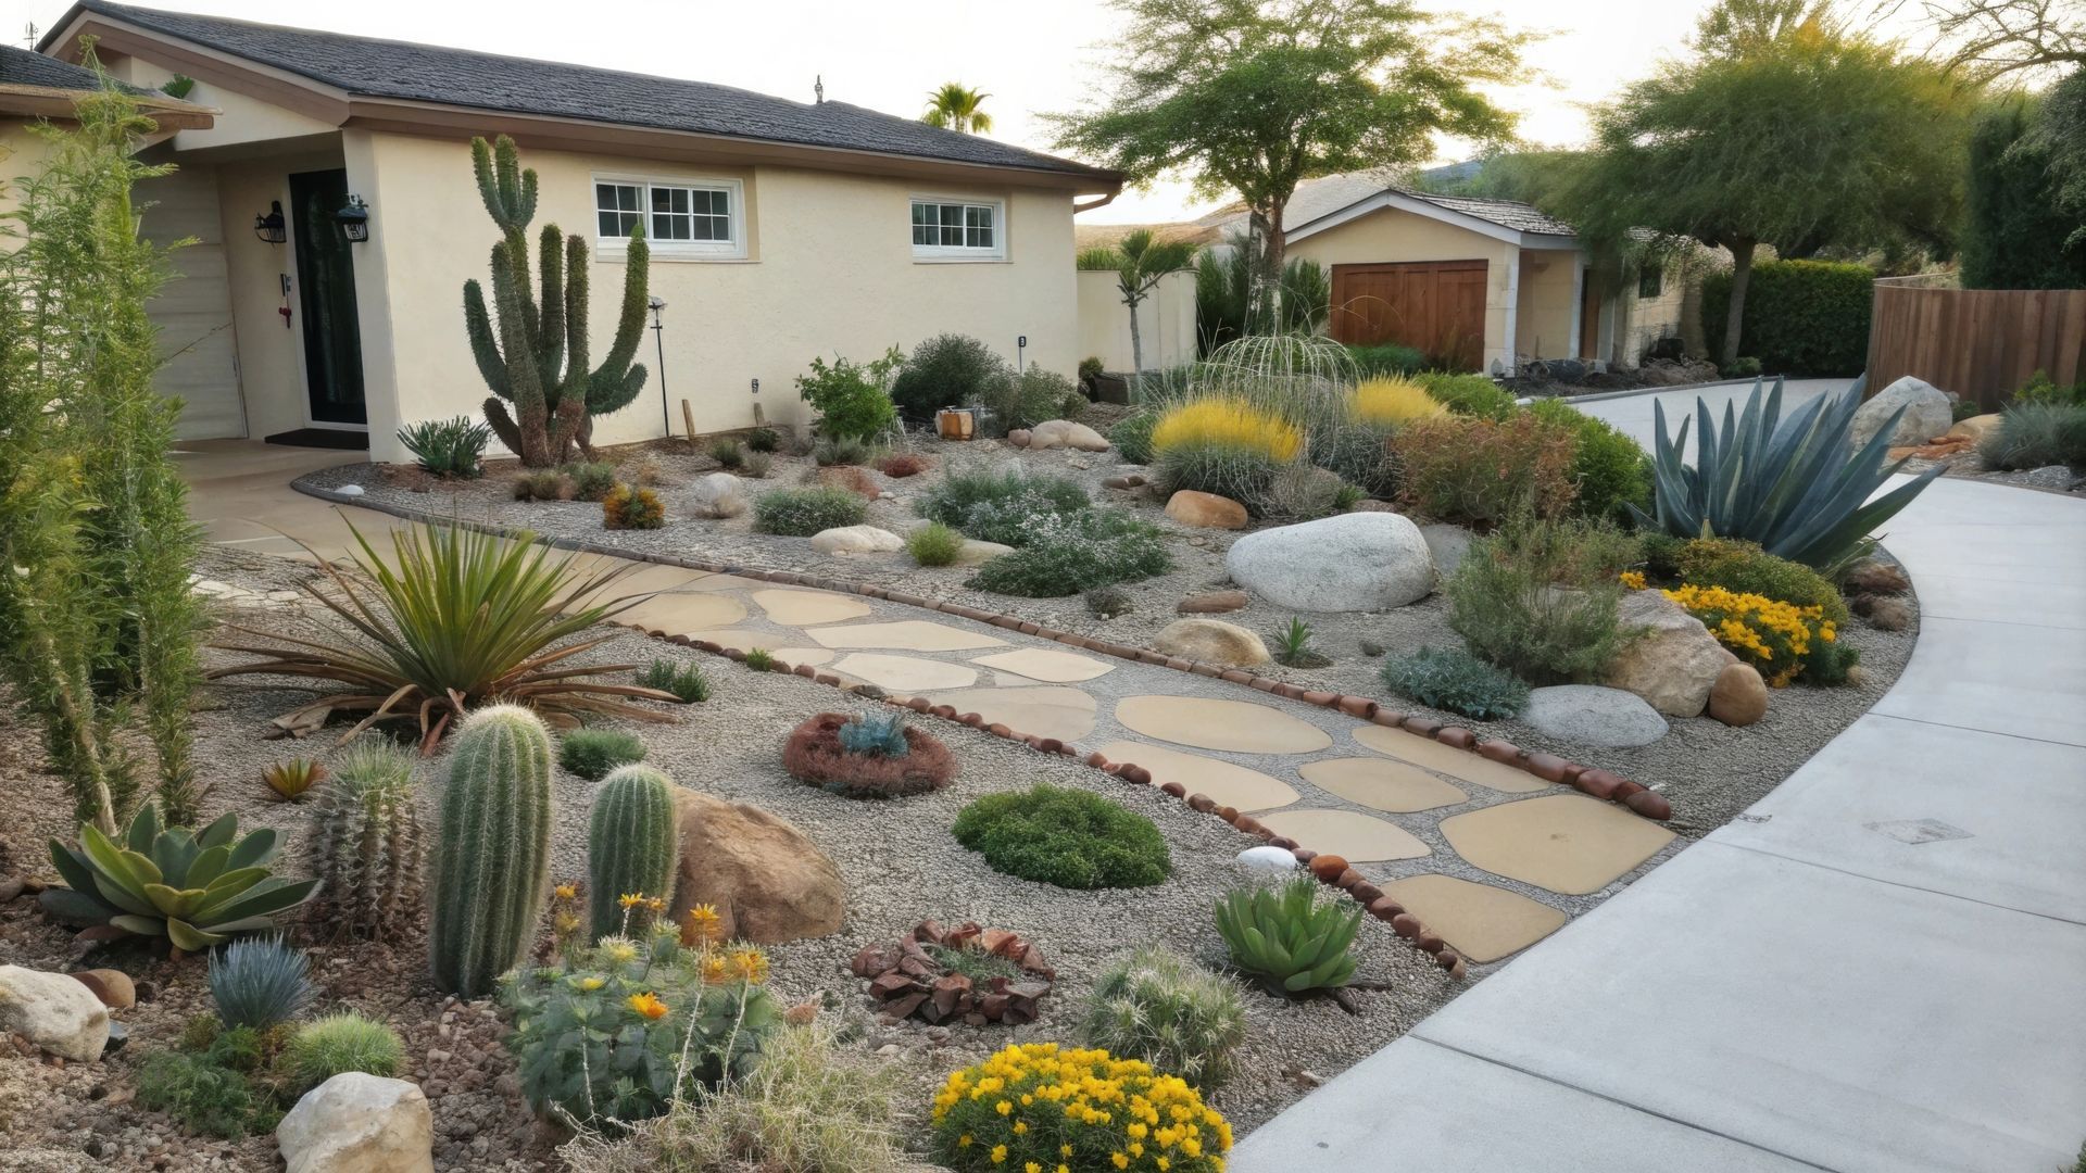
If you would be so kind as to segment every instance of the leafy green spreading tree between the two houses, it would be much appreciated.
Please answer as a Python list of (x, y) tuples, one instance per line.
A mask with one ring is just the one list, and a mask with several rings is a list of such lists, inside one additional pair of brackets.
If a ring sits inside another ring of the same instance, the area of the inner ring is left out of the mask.
[(1479, 86), (1519, 77), (1527, 38), (1410, 0), (1116, 0), (1116, 90), (1051, 115), (1058, 146), (1133, 182), (1187, 175), (1235, 192), (1283, 267), (1283, 215), (1316, 175), (1425, 161), (1435, 134), (1504, 140)]

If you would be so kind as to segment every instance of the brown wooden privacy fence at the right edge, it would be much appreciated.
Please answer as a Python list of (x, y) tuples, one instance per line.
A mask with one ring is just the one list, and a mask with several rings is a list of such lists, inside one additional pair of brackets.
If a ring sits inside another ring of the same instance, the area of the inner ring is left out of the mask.
[(1875, 282), (1869, 394), (1913, 376), (1998, 411), (2028, 376), (2086, 378), (2086, 290), (1959, 290)]

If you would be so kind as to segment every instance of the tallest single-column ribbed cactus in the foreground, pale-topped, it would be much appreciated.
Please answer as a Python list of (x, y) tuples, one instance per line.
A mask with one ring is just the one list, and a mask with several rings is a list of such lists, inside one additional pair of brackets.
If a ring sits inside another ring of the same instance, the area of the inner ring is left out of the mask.
[(478, 998), (528, 952), (551, 881), (551, 733), (536, 714), (490, 705), (463, 720), (434, 856), (434, 983)]

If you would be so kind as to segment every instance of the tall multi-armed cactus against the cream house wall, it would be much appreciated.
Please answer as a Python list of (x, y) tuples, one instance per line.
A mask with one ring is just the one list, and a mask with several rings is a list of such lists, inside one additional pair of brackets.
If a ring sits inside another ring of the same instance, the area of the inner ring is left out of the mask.
[[(592, 417), (622, 411), (645, 386), (645, 365), (632, 363), (645, 338), (651, 248), (645, 223), (630, 236), (624, 265), (624, 305), (615, 342), (599, 367), (588, 369), (586, 240), (565, 236), (555, 223), (538, 238), (540, 298), (530, 290), (528, 223), (536, 219), (536, 171), (524, 171), (505, 134), (488, 144), (471, 140), (471, 169), (501, 242), (492, 246), (492, 309), (484, 288), (463, 284), (463, 328), (492, 397), (486, 422), (530, 468), (563, 463), (572, 449), (588, 451)], [(513, 409), (509, 411), (509, 405)]]

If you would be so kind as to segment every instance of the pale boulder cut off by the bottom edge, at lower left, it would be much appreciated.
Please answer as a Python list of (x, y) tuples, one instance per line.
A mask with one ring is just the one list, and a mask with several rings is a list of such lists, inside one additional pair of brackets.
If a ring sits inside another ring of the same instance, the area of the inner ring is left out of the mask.
[(275, 1125), (286, 1173), (434, 1173), (434, 1112), (417, 1083), (344, 1071)]

